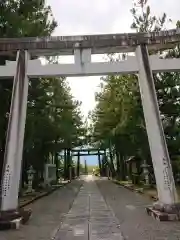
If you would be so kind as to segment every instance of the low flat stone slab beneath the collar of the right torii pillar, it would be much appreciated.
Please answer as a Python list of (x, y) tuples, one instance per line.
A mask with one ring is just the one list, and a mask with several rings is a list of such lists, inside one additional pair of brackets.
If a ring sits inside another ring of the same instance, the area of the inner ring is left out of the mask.
[(146, 208), (147, 214), (159, 221), (179, 221), (179, 213), (167, 213), (156, 210), (153, 207)]

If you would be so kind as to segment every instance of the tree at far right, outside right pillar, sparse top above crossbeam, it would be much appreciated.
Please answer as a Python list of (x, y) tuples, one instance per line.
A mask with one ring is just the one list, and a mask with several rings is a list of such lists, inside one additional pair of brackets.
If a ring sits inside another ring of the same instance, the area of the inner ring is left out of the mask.
[[(160, 31), (165, 28), (167, 22), (172, 22), (171, 19), (167, 18), (166, 13), (161, 18), (151, 15), (151, 8), (147, 0), (141, 0), (139, 4), (135, 4), (131, 12), (134, 18), (131, 27), (136, 29), (137, 32)], [(180, 26), (179, 21), (176, 26)], [(180, 47), (177, 45), (166, 52), (156, 51), (155, 53), (164, 58), (179, 58)], [(180, 89), (177, 87), (180, 83), (180, 74), (174, 72), (158, 73), (154, 74), (153, 77), (168, 150), (171, 159), (176, 159), (180, 153)]]

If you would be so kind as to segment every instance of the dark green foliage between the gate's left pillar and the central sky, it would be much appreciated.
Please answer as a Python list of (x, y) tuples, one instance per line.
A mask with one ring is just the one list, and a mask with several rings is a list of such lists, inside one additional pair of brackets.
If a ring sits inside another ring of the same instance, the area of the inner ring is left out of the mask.
[(24, 151), (37, 169), (49, 160), (50, 153), (79, 144), (83, 131), (80, 105), (69, 91), (64, 79), (31, 81)]

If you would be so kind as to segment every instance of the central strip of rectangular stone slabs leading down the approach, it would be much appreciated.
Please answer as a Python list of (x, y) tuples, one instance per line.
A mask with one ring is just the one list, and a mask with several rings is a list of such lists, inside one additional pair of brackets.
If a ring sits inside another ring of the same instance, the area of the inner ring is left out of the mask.
[(73, 239), (123, 240), (119, 222), (91, 176), (87, 176), (55, 237), (55, 240)]

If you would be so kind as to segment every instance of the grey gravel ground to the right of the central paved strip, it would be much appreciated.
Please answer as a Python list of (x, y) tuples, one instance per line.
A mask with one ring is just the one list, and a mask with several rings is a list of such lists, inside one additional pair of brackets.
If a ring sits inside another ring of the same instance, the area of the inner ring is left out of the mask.
[(159, 222), (148, 216), (151, 201), (108, 180), (96, 181), (105, 201), (114, 211), (127, 240), (180, 240), (180, 222)]

